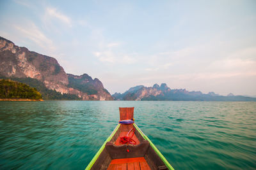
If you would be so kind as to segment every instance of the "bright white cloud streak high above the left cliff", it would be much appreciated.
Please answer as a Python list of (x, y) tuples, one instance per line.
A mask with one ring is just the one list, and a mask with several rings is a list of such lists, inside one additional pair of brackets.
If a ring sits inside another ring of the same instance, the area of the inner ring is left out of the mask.
[(47, 19), (57, 18), (58, 20), (60, 20), (64, 24), (67, 24), (68, 26), (72, 27), (71, 19), (69, 17), (67, 17), (67, 15), (65, 15), (65, 14), (61, 13), (60, 11), (56, 10), (56, 8), (51, 8), (51, 7), (46, 8), (45, 17), (47, 17)]

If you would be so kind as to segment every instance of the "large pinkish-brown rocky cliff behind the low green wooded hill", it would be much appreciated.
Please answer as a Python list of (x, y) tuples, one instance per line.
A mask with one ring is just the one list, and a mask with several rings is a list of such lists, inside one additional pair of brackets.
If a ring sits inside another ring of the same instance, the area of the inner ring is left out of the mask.
[[(84, 100), (113, 99), (97, 78), (92, 80), (87, 74), (86, 76), (85, 74), (82, 76), (67, 74), (56, 59), (16, 46), (12, 41), (2, 37), (0, 37), (0, 75), (35, 78), (42, 81), (47, 89), (56, 90), (61, 94), (75, 94)], [(79, 87), (72, 86), (74, 84), (72, 80), (77, 79), (83, 80), (80, 85), (84, 88), (88, 87), (97, 92), (88, 94), (84, 90), (81, 91)]]

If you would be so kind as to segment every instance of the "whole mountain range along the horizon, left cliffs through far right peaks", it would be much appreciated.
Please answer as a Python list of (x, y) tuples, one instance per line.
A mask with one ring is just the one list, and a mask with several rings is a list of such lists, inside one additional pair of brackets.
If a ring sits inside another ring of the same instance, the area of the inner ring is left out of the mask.
[(153, 87), (138, 85), (112, 96), (102, 82), (88, 74), (81, 76), (65, 73), (52, 57), (31, 52), (0, 37), (0, 78), (26, 83), (36, 88), (43, 99), (66, 100), (124, 100), (124, 101), (256, 101), (248, 96), (220, 96), (214, 92), (189, 92), (170, 89), (165, 83)]

